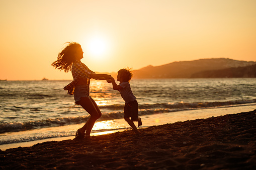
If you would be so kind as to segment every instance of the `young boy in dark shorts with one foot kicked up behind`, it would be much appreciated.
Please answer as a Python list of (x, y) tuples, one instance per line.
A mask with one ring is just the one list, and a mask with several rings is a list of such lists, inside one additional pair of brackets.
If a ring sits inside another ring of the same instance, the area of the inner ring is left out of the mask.
[[(119, 85), (116, 84), (115, 79), (112, 77), (112, 85), (114, 90), (118, 90), (125, 101), (124, 105), (124, 119), (132, 127), (136, 134), (139, 133), (137, 127), (133, 123), (134, 121), (138, 122), (138, 126), (142, 125), (141, 118), (138, 116), (138, 102), (136, 97), (132, 93), (129, 81), (131, 80), (133, 74), (130, 69), (121, 69), (117, 75), (117, 81)], [(130, 119), (131, 117), (131, 119)]]

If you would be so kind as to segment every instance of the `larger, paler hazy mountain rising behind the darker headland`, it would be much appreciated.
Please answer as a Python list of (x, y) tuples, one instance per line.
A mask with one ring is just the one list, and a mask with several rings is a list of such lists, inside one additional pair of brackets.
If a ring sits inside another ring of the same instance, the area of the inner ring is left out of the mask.
[[(173, 62), (173, 63), (161, 65), (161, 66), (150, 65), (150, 66), (141, 68), (139, 70), (134, 70), (133, 78), (136, 78), (136, 79), (192, 78), (192, 77), (198, 77), (198, 76), (200, 77), (203, 75), (205, 76), (209, 74), (209, 73), (206, 73), (205, 71), (216, 71), (216, 70), (223, 70), (223, 69), (230, 69), (230, 68), (246, 67), (254, 64), (256, 64), (256, 62), (238, 61), (238, 60), (232, 60), (227, 58), (180, 61), (180, 62)], [(231, 72), (232, 70), (229, 70), (229, 71)]]

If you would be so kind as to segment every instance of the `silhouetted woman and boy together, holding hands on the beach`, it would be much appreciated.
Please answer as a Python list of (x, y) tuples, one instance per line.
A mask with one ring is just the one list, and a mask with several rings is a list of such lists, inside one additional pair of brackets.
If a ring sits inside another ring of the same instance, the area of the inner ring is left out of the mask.
[(129, 69), (121, 69), (118, 71), (116, 84), (115, 79), (108, 74), (96, 74), (90, 70), (80, 60), (83, 58), (83, 51), (80, 44), (75, 42), (67, 42), (66, 47), (58, 53), (57, 60), (51, 65), (65, 73), (71, 71), (73, 81), (64, 87), (67, 94), (74, 95), (75, 104), (80, 105), (91, 116), (81, 128), (77, 129), (74, 139), (90, 138), (92, 128), (95, 121), (102, 115), (97, 103), (90, 96), (90, 79), (106, 80), (112, 83), (113, 89), (118, 90), (125, 101), (124, 119), (132, 127), (136, 134), (139, 133), (137, 127), (133, 123), (138, 122), (138, 126), (142, 125), (141, 118), (138, 117), (138, 102), (133, 95), (129, 81), (132, 73)]

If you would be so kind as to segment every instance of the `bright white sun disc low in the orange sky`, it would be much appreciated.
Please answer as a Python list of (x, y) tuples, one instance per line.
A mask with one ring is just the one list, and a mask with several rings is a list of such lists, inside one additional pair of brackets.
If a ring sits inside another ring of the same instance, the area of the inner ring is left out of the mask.
[(86, 49), (88, 55), (97, 59), (104, 58), (109, 51), (109, 43), (106, 38), (94, 36), (87, 40)]

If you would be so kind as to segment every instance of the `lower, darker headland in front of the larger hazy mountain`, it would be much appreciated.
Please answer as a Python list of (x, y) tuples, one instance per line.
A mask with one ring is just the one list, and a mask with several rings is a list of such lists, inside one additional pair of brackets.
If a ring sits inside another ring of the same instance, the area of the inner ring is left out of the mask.
[(256, 64), (246, 67), (228, 68), (222, 70), (209, 70), (192, 74), (191, 78), (254, 78), (256, 77)]

